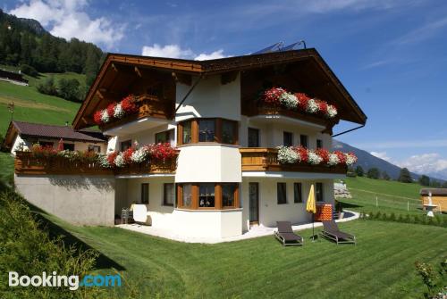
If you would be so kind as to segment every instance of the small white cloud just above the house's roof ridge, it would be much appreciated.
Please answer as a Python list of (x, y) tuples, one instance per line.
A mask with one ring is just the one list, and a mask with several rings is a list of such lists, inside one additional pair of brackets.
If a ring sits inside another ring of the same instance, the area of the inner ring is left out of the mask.
[(194, 54), (190, 48), (183, 49), (179, 45), (164, 45), (160, 46), (154, 44), (152, 46), (143, 46), (141, 50), (143, 56), (154, 57), (169, 57), (169, 58), (181, 58), (181, 59), (194, 59), (194, 60), (209, 60), (226, 57), (223, 54), (223, 50), (217, 50), (213, 53), (206, 54)]

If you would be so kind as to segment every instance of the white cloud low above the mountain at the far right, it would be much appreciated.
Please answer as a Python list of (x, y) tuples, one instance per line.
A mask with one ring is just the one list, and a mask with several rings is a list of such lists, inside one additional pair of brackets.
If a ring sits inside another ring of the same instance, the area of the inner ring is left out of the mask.
[(444, 173), (443, 175), (447, 176), (447, 159), (437, 153), (412, 155), (409, 159), (397, 164), (420, 174)]

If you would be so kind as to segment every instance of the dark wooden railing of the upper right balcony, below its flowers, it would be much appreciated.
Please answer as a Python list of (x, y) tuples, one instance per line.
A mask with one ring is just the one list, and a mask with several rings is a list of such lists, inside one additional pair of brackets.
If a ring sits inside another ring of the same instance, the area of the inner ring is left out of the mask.
[(316, 123), (325, 127), (333, 127), (338, 120), (329, 120), (321, 115), (313, 115), (298, 111), (292, 111), (283, 107), (273, 107), (266, 104), (260, 104), (258, 101), (243, 101), (242, 114), (246, 116), (269, 115), (269, 116), (286, 116), (292, 119), (304, 120)]

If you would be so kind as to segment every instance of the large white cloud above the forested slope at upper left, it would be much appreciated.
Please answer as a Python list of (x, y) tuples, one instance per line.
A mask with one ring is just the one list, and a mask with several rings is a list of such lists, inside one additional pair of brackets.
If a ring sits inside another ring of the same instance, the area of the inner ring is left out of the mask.
[(105, 17), (90, 18), (85, 12), (88, 6), (87, 0), (30, 0), (9, 13), (39, 21), (56, 37), (77, 37), (112, 48), (124, 37), (125, 25), (114, 24)]

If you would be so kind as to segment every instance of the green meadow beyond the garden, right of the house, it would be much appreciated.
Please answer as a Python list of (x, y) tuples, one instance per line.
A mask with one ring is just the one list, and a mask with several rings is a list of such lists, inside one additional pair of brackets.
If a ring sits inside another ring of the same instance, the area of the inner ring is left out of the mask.
[[(346, 208), (358, 212), (394, 212), (396, 214), (425, 214), (421, 210), (421, 186), (396, 181), (367, 178), (347, 178), (351, 199), (339, 199)], [(376, 206), (376, 198), (378, 206)], [(409, 209), (409, 210), (408, 210)], [(447, 217), (446, 214), (443, 217)]]

